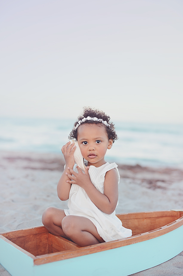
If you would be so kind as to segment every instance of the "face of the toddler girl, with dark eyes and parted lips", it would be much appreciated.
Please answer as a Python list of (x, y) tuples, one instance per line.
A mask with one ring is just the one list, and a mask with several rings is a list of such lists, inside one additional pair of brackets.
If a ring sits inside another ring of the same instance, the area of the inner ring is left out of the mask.
[(104, 156), (107, 149), (113, 145), (108, 139), (105, 126), (96, 124), (83, 124), (78, 128), (78, 145), (81, 154), (88, 161), (88, 166), (100, 167), (105, 164)]

